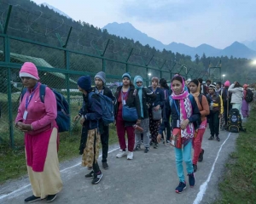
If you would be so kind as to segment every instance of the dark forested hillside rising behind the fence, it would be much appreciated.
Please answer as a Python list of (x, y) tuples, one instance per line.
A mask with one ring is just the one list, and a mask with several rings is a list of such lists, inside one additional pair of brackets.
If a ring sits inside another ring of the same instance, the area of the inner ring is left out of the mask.
[[(107, 30), (102, 31), (100, 28), (89, 25), (84, 21), (68, 19), (48, 7), (38, 6), (30, 0), (0, 0), (0, 28), (4, 28), (9, 4), (13, 5), (7, 31), (9, 36), (21, 37), (33, 42), (42, 42), (61, 48), (65, 44), (68, 32), (72, 27), (67, 49), (76, 52), (101, 56), (108, 44), (104, 54), (104, 57), (108, 59), (126, 61), (131, 53), (129, 63), (147, 65), (150, 61), (149, 68), (160, 69), (161, 65), (164, 65), (162, 67), (163, 71), (180, 72), (185, 76), (184, 65), (188, 68), (187, 71), (191, 68), (187, 77), (197, 77), (201, 72), (207, 73), (209, 65), (220, 65), (221, 62), (221, 72), (225, 74), (225, 79), (253, 82), (256, 78), (253, 77), (256, 65), (252, 65), (252, 60), (228, 58), (226, 56), (209, 57), (205, 54), (202, 56), (196, 54), (195, 60), (192, 60), (189, 55), (172, 53), (172, 51), (166, 49), (160, 51), (154, 47), (151, 48), (149, 45), (143, 46), (140, 42), (135, 42), (132, 39), (110, 35)], [(12, 40), (10, 45), (11, 53), (42, 58), (53, 67), (65, 68), (64, 52), (60, 50), (15, 40)], [(3, 37), (2, 39), (0, 37), (0, 52), (1, 50), (3, 50)], [(0, 54), (0, 60), (3, 60), (1, 56), (3, 58), (3, 55)], [(152, 58), (152, 56), (154, 57)], [(70, 65), (73, 71), (96, 73), (102, 70), (102, 59), (85, 57), (83, 54), (71, 54)], [(107, 61), (106, 73), (108, 75), (121, 76), (124, 71), (125, 65)], [(148, 77), (145, 69), (138, 69), (137, 66), (130, 66), (129, 71), (132, 76)], [(157, 71), (152, 72), (153, 75), (158, 73)], [(212, 70), (211, 73), (210, 77), (213, 80), (220, 80), (218, 70)], [(204, 75), (205, 80), (207, 77), (207, 74)]]

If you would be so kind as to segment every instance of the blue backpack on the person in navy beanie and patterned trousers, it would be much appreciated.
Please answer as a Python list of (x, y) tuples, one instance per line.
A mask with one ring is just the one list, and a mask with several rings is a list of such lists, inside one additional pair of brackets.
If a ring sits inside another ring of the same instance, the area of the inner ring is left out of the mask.
[[(91, 101), (91, 96), (93, 94), (96, 94), (94, 92), (90, 92), (89, 94), (89, 101)], [(113, 100), (110, 99), (106, 95), (97, 94), (97, 96), (100, 99), (100, 103), (102, 106), (102, 121), (104, 125), (108, 125), (112, 122), (114, 122), (114, 116), (113, 116)]]

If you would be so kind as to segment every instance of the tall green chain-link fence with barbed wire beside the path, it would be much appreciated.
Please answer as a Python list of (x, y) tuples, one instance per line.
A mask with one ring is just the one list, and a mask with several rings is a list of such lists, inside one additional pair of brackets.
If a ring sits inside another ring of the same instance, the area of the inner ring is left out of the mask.
[[(43, 11), (0, 2), (0, 15), (0, 145), (23, 145), (23, 133), (17, 131), (14, 121), (22, 89), (19, 71), (26, 61), (37, 65), (41, 82), (66, 96), (72, 117), (81, 107), (76, 82), (82, 75), (94, 77), (98, 71), (105, 71), (108, 86), (114, 91), (126, 71), (132, 77), (142, 76), (147, 85), (151, 77), (170, 80), (176, 72), (184, 77), (204, 74), (197, 67), (189, 68), (193, 71), (188, 74), (188, 68), (172, 56), (162, 59), (159, 51), (149, 53), (147, 46), (131, 40), (123, 43), (114, 36), (110, 39), (108, 33), (94, 33), (91, 30), (95, 28), (72, 20), (50, 19)], [(72, 26), (67, 26), (68, 22)]]

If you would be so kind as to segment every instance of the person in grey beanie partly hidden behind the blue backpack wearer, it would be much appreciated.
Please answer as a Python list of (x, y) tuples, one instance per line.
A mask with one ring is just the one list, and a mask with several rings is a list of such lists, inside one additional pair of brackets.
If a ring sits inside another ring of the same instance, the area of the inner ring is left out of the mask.
[[(103, 71), (100, 71), (94, 77), (94, 82), (96, 87), (92, 88), (92, 91), (96, 94), (102, 94), (108, 96), (108, 98), (113, 100), (113, 104), (115, 102), (115, 97), (113, 96), (111, 90), (105, 86), (106, 84), (106, 74)], [(101, 134), (102, 140), (102, 167), (104, 169), (108, 169), (108, 139), (109, 139), (109, 127), (108, 125), (103, 125), (102, 127), (103, 133)]]

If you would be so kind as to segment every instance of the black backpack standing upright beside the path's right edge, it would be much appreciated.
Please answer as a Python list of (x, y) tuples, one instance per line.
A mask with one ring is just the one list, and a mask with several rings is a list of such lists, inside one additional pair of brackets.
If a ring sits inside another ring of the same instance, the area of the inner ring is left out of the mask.
[(241, 130), (241, 115), (238, 109), (231, 109), (228, 116), (228, 131), (239, 133)]

